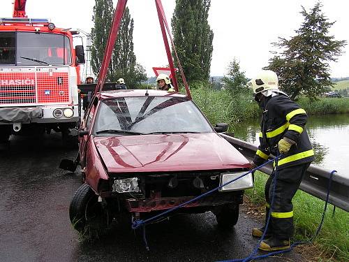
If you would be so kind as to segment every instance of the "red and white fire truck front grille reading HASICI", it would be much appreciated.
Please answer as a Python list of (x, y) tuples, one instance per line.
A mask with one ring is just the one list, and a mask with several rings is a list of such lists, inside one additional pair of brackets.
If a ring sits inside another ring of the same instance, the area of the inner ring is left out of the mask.
[(0, 105), (70, 103), (68, 68), (1, 68)]

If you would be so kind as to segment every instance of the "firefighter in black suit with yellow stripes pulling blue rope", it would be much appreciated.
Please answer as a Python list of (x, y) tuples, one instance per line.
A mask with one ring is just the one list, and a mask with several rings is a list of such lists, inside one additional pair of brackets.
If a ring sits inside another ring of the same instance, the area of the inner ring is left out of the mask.
[[(269, 154), (282, 154), (277, 168), (274, 205), (265, 235), (259, 249), (265, 251), (283, 250), (290, 247), (293, 235), (292, 198), (295, 196), (302, 177), (314, 159), (314, 152), (304, 128), (307, 115), (304, 109), (279, 90), (279, 80), (273, 71), (264, 70), (248, 82), (255, 95), (255, 101), (262, 109), (260, 124), (260, 146), (251, 162), (252, 168), (264, 163)], [(272, 200), (272, 179), (275, 170), (265, 184), (266, 214)], [(253, 228), (252, 235), (261, 237), (265, 231)]]

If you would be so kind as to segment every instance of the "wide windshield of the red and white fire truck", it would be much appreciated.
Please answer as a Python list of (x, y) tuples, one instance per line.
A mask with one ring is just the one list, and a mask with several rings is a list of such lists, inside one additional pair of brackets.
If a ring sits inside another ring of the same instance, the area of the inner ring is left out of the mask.
[(71, 62), (67, 36), (0, 31), (0, 66), (60, 66)]

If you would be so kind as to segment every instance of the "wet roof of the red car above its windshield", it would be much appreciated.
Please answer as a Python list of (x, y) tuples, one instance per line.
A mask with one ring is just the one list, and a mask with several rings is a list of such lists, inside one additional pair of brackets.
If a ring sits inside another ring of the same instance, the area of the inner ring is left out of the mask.
[(131, 97), (131, 96), (171, 96), (171, 97), (187, 97), (184, 94), (179, 94), (177, 92), (167, 92), (163, 90), (154, 89), (119, 89), (119, 90), (109, 90), (102, 91), (99, 94), (101, 99), (110, 99), (117, 97)]

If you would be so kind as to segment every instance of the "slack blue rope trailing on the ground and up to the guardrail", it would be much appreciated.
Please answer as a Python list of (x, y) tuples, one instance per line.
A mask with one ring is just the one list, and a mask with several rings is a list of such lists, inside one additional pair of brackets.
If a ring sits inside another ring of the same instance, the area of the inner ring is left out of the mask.
[[(324, 212), (322, 212), (321, 221), (320, 221), (320, 224), (319, 224), (318, 228), (316, 229), (315, 234), (309, 240), (294, 242), (292, 245), (290, 245), (290, 248), (288, 248), (288, 249), (284, 249), (284, 250), (280, 250), (280, 251), (276, 251), (276, 252), (269, 252), (267, 254), (263, 254), (263, 255), (260, 255), (260, 256), (254, 256), (255, 250), (258, 249), (262, 238), (265, 237), (265, 232), (267, 232), (267, 226), (269, 224), (269, 217), (270, 217), (270, 214), (271, 214), (271, 210), (269, 210), (267, 224), (265, 226), (266, 229), (263, 232), (262, 237), (258, 241), (258, 245), (256, 246), (257, 248), (253, 250), (253, 252), (250, 254), (250, 256), (247, 256), (245, 259), (232, 259), (232, 260), (224, 260), (224, 261), (219, 261), (219, 262), (245, 262), (245, 261), (258, 260), (258, 259), (265, 259), (265, 258), (267, 258), (269, 256), (274, 256), (274, 255), (277, 255), (277, 254), (283, 254), (283, 253), (286, 253), (286, 252), (290, 252), (297, 245), (309, 244), (309, 243), (313, 242), (314, 238), (316, 238), (318, 236), (318, 234), (320, 233), (320, 230), (322, 228), (322, 224), (323, 224), (323, 222), (325, 220), (325, 214), (326, 214), (328, 200), (329, 200), (329, 190), (331, 189), (333, 174), (336, 173), (336, 172), (337, 172), (336, 170), (332, 170), (331, 173), (329, 174), (329, 182), (328, 182), (328, 186), (327, 186), (327, 195), (326, 195), (326, 200), (325, 200)], [(275, 187), (275, 184), (274, 184), (274, 187)], [(274, 187), (273, 187), (273, 190), (274, 190)], [(273, 192), (272, 199), (274, 201), (274, 192)], [(270, 206), (270, 208), (272, 208), (272, 205)]]

